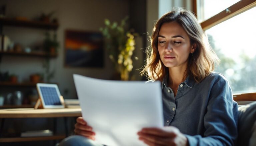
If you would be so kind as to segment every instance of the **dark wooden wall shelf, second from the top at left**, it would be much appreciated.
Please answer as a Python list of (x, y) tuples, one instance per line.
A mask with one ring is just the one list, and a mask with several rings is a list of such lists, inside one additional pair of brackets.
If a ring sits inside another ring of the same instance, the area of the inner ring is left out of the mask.
[(56, 53), (47, 53), (47, 52), (32, 52), (32, 53), (25, 53), (25, 52), (3, 52), (0, 51), (0, 55), (10, 55), (10, 56), (26, 56), (26, 57), (57, 57)]

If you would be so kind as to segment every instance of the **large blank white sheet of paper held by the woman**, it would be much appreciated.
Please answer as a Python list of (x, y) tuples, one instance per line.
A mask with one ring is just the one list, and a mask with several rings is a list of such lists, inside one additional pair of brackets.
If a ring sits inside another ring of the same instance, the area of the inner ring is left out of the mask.
[(97, 142), (107, 146), (144, 146), (137, 132), (163, 127), (159, 81), (114, 81), (74, 74), (82, 116)]

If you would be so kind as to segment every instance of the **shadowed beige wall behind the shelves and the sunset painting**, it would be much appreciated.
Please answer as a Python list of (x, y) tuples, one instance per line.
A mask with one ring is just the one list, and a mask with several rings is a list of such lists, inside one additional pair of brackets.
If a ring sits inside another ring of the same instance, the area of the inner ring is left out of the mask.
[[(59, 84), (64, 98), (74, 98), (75, 86), (73, 73), (95, 78), (109, 79), (113, 73), (112, 63), (106, 57), (104, 68), (65, 68), (64, 67), (64, 32), (66, 29), (82, 31), (99, 31), (104, 27), (104, 19), (120, 22), (128, 15), (128, 0), (1, 0), (0, 5), (6, 4), (6, 16), (23, 16), (28, 19), (39, 17), (41, 13), (56, 11), (53, 17), (59, 21), (57, 37), (60, 43), (58, 57), (51, 59), (51, 71), (55, 70), (55, 77), (51, 80)], [(40, 44), (44, 40), (45, 30), (20, 27), (3, 27), (3, 32), (12, 41), (24, 47)], [(17, 74), (19, 81), (29, 80), (32, 73), (43, 73), (45, 59), (36, 57), (3, 56), (0, 72), (9, 71)]]

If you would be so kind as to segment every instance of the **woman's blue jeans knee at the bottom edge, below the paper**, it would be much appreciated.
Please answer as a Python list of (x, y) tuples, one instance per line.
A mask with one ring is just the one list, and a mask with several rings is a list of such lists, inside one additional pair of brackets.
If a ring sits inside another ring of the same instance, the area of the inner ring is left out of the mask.
[(80, 135), (72, 135), (63, 139), (58, 146), (104, 146), (96, 141)]

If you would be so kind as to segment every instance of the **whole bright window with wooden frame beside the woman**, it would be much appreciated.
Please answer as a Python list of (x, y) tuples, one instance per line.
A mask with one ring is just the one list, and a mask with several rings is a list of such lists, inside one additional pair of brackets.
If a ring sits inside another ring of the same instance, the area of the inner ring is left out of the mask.
[(242, 93), (237, 101), (256, 100), (256, 1), (197, 0), (196, 5), (198, 20), (221, 60), (216, 72), (226, 76), (233, 93)]

